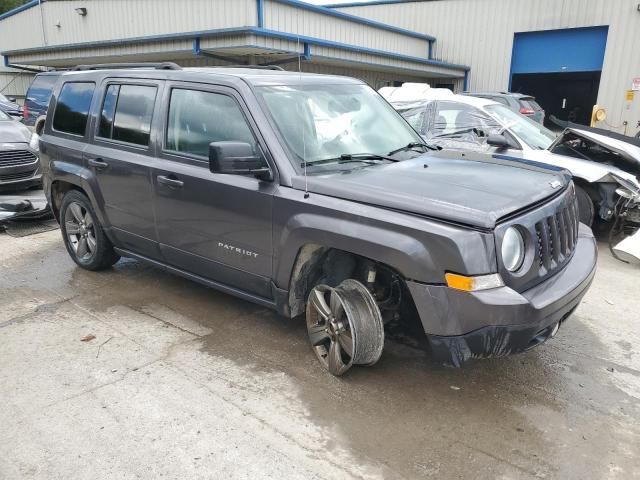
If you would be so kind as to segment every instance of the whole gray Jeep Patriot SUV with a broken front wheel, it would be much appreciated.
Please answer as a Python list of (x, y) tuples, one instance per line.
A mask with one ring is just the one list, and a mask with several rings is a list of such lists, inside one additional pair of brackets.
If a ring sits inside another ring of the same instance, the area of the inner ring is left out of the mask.
[(595, 271), (570, 175), (432, 151), (361, 81), (272, 69), (87, 67), (41, 155), (71, 258), (127, 256), (287, 317), (321, 365), (372, 365), (420, 320), (461, 365), (552, 337)]

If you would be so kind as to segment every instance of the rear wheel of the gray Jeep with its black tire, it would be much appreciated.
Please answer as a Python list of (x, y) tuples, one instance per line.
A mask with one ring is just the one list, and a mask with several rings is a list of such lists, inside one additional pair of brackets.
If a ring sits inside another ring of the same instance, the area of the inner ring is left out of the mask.
[(70, 190), (63, 197), (60, 230), (69, 256), (82, 268), (102, 270), (120, 260), (84, 193)]

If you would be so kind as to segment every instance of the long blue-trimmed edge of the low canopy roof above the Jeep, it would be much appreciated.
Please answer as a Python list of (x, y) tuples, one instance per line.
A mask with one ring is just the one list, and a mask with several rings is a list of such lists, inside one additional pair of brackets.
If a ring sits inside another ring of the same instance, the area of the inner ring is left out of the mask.
[(166, 40), (193, 40), (194, 38), (198, 38), (198, 37), (199, 38), (219, 37), (219, 36), (224, 36), (224, 35), (228, 36), (228, 35), (234, 35), (234, 34), (236, 35), (253, 34), (253, 35), (258, 35), (262, 37), (279, 38), (282, 40), (290, 40), (294, 42), (300, 41), (300, 42), (308, 43), (309, 45), (317, 45), (321, 47), (347, 50), (350, 52), (377, 55), (377, 56), (381, 56), (385, 58), (393, 58), (401, 61), (416, 62), (423, 65), (432, 65), (436, 67), (452, 68), (457, 70), (469, 70), (469, 67), (466, 65), (457, 65), (453, 63), (441, 62), (439, 60), (431, 60), (427, 58), (413, 57), (409, 55), (401, 55), (398, 53), (387, 52), (384, 50), (376, 50), (376, 49), (371, 49), (366, 47), (359, 47), (357, 45), (349, 45), (346, 43), (334, 42), (331, 40), (323, 40), (320, 38), (307, 37), (304, 35), (278, 32), (275, 30), (268, 30), (265, 28), (258, 28), (258, 27), (221, 28), (217, 30), (201, 30), (201, 31), (186, 32), (186, 33), (150, 35), (147, 37), (133, 37), (133, 38), (103, 40), (103, 41), (95, 41), (95, 42), (81, 42), (81, 43), (66, 44), (66, 45), (50, 45), (46, 47), (35, 47), (35, 48), (27, 48), (22, 50), (11, 50), (7, 52), (2, 52), (2, 54), (3, 55), (21, 55), (25, 53), (47, 52), (47, 51), (53, 51), (53, 50), (75, 50), (80, 48), (94, 48), (94, 47), (114, 46), (114, 45), (123, 45), (123, 44), (126, 45), (131, 43), (160, 42), (160, 41), (166, 41)]

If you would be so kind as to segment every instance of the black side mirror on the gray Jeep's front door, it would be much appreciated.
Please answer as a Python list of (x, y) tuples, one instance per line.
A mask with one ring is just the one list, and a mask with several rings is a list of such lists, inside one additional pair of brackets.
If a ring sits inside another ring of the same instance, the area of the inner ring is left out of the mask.
[(273, 180), (267, 162), (245, 142), (210, 143), (209, 170), (213, 173), (253, 175), (262, 180)]

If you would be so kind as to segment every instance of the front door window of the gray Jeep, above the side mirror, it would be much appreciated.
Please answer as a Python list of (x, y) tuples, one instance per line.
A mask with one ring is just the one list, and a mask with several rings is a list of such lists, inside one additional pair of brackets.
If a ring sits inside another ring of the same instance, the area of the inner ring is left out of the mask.
[(173, 89), (169, 103), (166, 148), (206, 157), (211, 142), (255, 139), (232, 97), (220, 93)]

